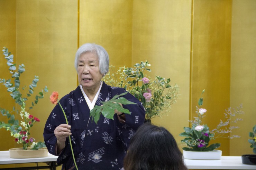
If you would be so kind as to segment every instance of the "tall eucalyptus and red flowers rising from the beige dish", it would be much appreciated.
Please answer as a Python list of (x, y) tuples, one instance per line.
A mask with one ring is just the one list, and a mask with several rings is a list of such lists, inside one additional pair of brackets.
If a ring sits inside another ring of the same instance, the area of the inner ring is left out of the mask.
[[(42, 92), (39, 92), (39, 95), (36, 95), (35, 100), (31, 103), (28, 111), (26, 111), (26, 101), (28, 100), (28, 97), (34, 93), (34, 88), (37, 86), (39, 79), (37, 76), (35, 76), (35, 79), (29, 85), (26, 97), (22, 97), (19, 89), (20, 74), (25, 71), (25, 66), (24, 64), (19, 65), (18, 71), (15, 72), (16, 64), (13, 63), (13, 55), (8, 52), (8, 49), (5, 47), (2, 51), (3, 55), (5, 56), (4, 58), (7, 59), (7, 65), (9, 66), (11, 78), (13, 79), (14, 84), (11, 82), (11, 79), (0, 79), (0, 83), (3, 83), (3, 85), (7, 88), (7, 91), (10, 92), (11, 97), (18, 105), (20, 105), (20, 110), (16, 109), (16, 107), (13, 107), (12, 111), (0, 108), (2, 116), (7, 116), (8, 118), (8, 123), (3, 121), (0, 122), (0, 129), (5, 128), (7, 131), (10, 131), (11, 136), (15, 138), (15, 142), (21, 144), (24, 150), (27, 150), (29, 146), (32, 150), (38, 150), (39, 148), (45, 147), (45, 143), (35, 142), (33, 137), (29, 137), (29, 131), (34, 124), (40, 120), (29, 114), (29, 111), (38, 103), (39, 99), (44, 98), (44, 93), (48, 92), (48, 89), (45, 86), (45, 88), (42, 89)], [(22, 87), (22, 89), (25, 90), (26, 86)], [(14, 112), (14, 114), (11, 114), (11, 112)], [(19, 114), (21, 117), (20, 123), (19, 120), (15, 118), (17, 114)]]

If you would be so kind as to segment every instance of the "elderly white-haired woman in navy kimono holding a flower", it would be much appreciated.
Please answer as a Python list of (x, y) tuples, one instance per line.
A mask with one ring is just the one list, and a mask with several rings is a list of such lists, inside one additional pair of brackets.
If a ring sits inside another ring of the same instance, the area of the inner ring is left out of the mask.
[(107, 51), (97, 44), (83, 44), (77, 50), (75, 68), (79, 86), (60, 100), (68, 124), (60, 106), (55, 106), (44, 129), (47, 149), (58, 156), (57, 164), (63, 164), (63, 170), (74, 169), (67, 138), (71, 136), (78, 169), (119, 170), (123, 167), (130, 138), (144, 123), (145, 110), (134, 96), (127, 93), (122, 97), (137, 103), (122, 106), (130, 111), (130, 115), (117, 112), (111, 120), (101, 114), (98, 124), (95, 124), (90, 120), (90, 110), (125, 90), (101, 81), (108, 72), (109, 57)]

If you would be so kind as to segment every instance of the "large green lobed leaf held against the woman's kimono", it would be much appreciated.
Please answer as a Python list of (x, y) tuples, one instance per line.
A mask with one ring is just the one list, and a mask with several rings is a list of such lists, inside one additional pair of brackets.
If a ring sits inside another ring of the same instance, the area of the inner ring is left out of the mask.
[[(94, 108), (90, 111), (90, 117), (92, 117), (92, 120), (97, 124), (100, 119), (100, 114), (108, 119), (114, 119), (115, 110), (118, 110), (122, 113), (130, 114), (130, 111), (128, 109), (125, 109), (120, 106), (120, 104), (136, 104), (134, 102), (131, 102), (123, 97), (128, 92), (124, 92), (122, 94), (114, 96), (109, 101), (101, 102), (101, 106), (94, 106)], [(120, 98), (119, 98), (120, 97)]]

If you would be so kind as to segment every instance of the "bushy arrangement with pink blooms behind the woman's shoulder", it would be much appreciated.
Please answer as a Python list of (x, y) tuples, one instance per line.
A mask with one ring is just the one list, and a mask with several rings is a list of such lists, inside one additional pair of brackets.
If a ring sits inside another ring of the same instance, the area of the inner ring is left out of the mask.
[(148, 61), (141, 61), (133, 68), (120, 67), (117, 72), (109, 72), (103, 78), (110, 86), (124, 88), (135, 96), (145, 108), (146, 120), (170, 113), (171, 105), (179, 98), (179, 86), (171, 86), (170, 78), (156, 76), (152, 80), (145, 74), (145, 71), (151, 71), (149, 66)]

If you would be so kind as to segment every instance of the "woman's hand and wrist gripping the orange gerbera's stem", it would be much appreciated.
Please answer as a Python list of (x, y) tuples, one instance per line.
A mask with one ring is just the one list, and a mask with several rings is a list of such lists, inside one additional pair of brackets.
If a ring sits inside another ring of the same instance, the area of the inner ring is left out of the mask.
[(68, 124), (60, 124), (54, 130), (54, 135), (57, 138), (57, 154), (65, 148), (66, 138), (71, 135), (71, 126)]

